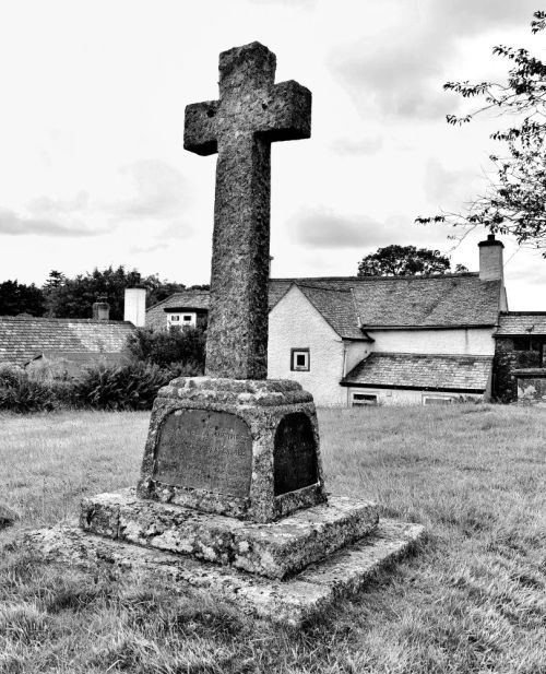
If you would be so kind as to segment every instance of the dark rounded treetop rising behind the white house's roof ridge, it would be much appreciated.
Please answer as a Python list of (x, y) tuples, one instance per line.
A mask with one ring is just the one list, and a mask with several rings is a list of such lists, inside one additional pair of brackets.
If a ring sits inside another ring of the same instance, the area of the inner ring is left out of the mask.
[[(416, 248), (415, 246), (385, 246), (366, 256), (358, 263), (359, 276), (408, 276), (418, 274), (444, 274), (451, 271), (450, 259), (439, 250)], [(458, 264), (456, 272), (467, 271)]]

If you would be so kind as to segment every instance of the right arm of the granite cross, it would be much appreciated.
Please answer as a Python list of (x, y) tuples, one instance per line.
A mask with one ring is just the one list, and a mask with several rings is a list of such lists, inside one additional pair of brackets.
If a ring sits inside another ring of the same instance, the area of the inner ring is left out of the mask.
[(275, 84), (262, 102), (258, 131), (271, 141), (311, 137), (311, 92), (294, 80)]

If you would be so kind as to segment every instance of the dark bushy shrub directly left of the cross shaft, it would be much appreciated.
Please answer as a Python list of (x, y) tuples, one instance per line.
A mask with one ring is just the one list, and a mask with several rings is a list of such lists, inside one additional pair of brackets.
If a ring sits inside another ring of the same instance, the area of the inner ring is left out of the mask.
[(194, 375), (204, 370), (205, 331), (202, 328), (152, 330), (139, 328), (128, 340), (128, 350), (136, 359), (159, 367), (189, 366)]

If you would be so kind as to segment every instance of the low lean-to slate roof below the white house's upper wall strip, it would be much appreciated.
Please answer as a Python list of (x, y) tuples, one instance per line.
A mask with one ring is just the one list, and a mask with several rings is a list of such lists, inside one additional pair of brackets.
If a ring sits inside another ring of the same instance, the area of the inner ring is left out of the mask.
[(372, 353), (342, 385), (483, 392), (491, 367), (492, 356)]

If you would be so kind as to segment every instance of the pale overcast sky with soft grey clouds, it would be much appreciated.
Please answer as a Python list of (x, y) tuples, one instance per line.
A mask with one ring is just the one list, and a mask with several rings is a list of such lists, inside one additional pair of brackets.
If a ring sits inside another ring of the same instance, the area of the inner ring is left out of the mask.
[[(0, 4), (0, 281), (123, 264), (207, 283), (215, 156), (183, 109), (219, 51), (259, 40), (311, 90), (311, 139), (272, 147), (274, 276), (354, 275), (380, 246), (448, 252), (414, 224), (477, 196), (507, 120), (446, 123), (449, 80), (501, 78), (496, 44), (545, 58), (527, 0), (16, 0)], [(492, 126), (491, 126), (492, 123)], [(477, 271), (477, 241), (451, 251)], [(510, 308), (546, 310), (546, 260), (505, 240)]]

